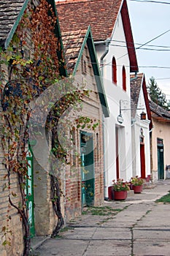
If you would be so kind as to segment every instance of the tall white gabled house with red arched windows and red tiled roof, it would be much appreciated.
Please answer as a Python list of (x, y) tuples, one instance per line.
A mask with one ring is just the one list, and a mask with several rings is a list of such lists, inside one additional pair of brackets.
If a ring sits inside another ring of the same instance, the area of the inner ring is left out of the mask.
[(104, 118), (104, 194), (112, 199), (112, 180), (133, 175), (130, 73), (138, 72), (138, 65), (127, 2), (58, 1), (56, 9), (61, 32), (87, 25), (92, 30), (110, 111)]

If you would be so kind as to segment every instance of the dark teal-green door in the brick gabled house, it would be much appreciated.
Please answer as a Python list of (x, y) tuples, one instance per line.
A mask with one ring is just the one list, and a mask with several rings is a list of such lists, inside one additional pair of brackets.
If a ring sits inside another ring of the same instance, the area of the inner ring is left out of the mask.
[(94, 157), (93, 135), (80, 132), (82, 206), (93, 206), (94, 202)]

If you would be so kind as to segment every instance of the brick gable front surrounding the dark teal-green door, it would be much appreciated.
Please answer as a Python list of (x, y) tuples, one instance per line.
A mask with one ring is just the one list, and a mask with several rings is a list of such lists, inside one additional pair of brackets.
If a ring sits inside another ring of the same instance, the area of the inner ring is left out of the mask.
[[(98, 91), (96, 86), (96, 80), (93, 74), (93, 69), (90, 64), (90, 56), (88, 48), (85, 47), (83, 55), (83, 61), (86, 62), (85, 71), (82, 71), (82, 63), (77, 67), (77, 74), (75, 75), (76, 82), (85, 85), (85, 89), (92, 90), (90, 92), (90, 98), (86, 97), (83, 102), (83, 108), (81, 115), (93, 118), (100, 125), (95, 131), (92, 129), (83, 129), (85, 132), (93, 134), (93, 157), (94, 157), (94, 206), (100, 206), (104, 202), (104, 152), (103, 152), (103, 127), (102, 127), (102, 110), (98, 97)], [(80, 129), (74, 131), (74, 148), (80, 153)], [(81, 184), (81, 168), (80, 163), (75, 161), (74, 156), (71, 156), (71, 162), (74, 167), (66, 169), (66, 219), (74, 219), (80, 216), (82, 212), (82, 184)]]

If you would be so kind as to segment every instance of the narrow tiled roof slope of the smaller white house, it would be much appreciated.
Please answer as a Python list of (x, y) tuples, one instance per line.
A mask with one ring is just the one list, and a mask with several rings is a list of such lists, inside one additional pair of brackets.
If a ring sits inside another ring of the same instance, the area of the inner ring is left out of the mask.
[(144, 74), (131, 75), (131, 118), (136, 116), (136, 108), (139, 100), (139, 94), (142, 88), (142, 78)]

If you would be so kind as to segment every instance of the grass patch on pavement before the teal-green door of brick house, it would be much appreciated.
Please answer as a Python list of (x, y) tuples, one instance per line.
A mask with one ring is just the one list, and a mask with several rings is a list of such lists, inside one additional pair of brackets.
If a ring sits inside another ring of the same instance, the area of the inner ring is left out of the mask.
[(98, 207), (86, 207), (82, 214), (92, 214), (92, 215), (99, 215), (99, 216), (107, 216), (110, 214), (115, 214), (119, 211), (122, 211), (120, 208), (112, 208), (109, 206), (98, 206)]

